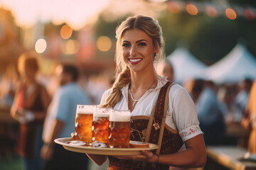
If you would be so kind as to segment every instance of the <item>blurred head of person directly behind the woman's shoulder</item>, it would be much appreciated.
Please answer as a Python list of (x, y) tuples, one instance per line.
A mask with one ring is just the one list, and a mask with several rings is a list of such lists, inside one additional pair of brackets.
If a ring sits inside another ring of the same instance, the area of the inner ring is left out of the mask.
[(169, 81), (174, 81), (174, 66), (169, 60), (162, 60), (157, 64), (156, 73), (164, 76)]

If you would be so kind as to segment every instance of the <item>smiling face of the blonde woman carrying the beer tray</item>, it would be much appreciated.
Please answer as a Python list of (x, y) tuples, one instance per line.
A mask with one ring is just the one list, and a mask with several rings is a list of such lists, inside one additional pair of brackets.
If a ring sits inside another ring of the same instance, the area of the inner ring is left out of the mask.
[(122, 37), (122, 55), (124, 62), (134, 72), (154, 68), (153, 41), (143, 30), (126, 30)]

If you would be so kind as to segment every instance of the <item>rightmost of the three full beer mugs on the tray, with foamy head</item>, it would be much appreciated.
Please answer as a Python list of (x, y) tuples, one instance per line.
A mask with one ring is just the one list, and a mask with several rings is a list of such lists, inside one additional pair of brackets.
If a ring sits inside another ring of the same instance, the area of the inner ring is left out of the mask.
[(113, 110), (110, 113), (109, 146), (129, 147), (131, 131), (131, 112)]

